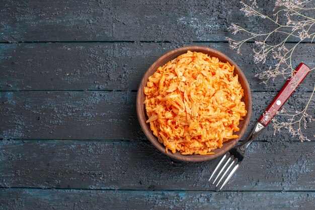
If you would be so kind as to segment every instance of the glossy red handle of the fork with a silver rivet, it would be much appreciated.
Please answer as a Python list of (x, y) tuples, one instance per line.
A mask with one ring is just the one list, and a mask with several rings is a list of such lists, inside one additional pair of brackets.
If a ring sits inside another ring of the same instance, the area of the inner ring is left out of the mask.
[(309, 71), (310, 68), (307, 65), (300, 63), (295, 69), (293, 76), (284, 84), (258, 122), (266, 127), (276, 112), (279, 111), (288, 98), (290, 98), (297, 86), (304, 80)]

